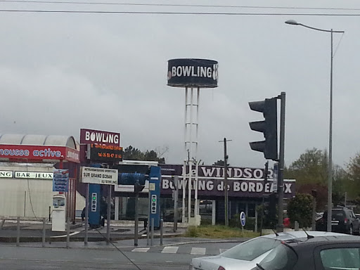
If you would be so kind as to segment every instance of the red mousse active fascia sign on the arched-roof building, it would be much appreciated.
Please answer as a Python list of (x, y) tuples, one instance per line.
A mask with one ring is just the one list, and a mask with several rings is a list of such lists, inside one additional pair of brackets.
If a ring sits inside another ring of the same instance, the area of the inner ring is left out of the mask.
[(79, 163), (79, 151), (65, 146), (1, 144), (0, 158), (10, 160), (68, 160)]

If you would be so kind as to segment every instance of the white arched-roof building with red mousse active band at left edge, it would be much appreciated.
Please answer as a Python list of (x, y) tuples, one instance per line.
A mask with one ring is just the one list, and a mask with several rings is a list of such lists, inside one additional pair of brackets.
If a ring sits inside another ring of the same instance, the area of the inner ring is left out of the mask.
[[(0, 135), (0, 216), (75, 221), (79, 149), (72, 136)], [(59, 179), (56, 172), (66, 171)]]

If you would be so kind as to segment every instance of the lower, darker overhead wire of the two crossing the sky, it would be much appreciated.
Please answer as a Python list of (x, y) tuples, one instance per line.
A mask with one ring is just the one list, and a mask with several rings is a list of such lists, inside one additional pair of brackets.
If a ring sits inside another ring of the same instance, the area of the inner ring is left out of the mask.
[(173, 12), (173, 11), (65, 11), (65, 10), (35, 10), (35, 9), (0, 9), (8, 13), (103, 13), (103, 14), (139, 14), (139, 15), (260, 15), (260, 16), (341, 16), (357, 17), (359, 13), (228, 13), (228, 12)]

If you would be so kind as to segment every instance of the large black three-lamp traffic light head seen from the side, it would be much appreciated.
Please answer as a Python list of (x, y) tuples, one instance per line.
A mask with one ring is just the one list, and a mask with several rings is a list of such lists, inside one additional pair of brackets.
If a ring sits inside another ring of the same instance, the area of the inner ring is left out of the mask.
[(264, 115), (265, 120), (249, 122), (250, 129), (262, 132), (264, 141), (250, 142), (252, 150), (264, 153), (266, 160), (278, 160), (278, 113), (277, 98), (249, 102), (251, 110)]

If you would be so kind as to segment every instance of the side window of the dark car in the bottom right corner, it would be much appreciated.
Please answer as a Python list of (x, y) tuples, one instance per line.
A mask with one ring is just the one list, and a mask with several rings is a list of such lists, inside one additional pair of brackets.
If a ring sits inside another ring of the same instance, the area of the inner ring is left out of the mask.
[(359, 248), (331, 248), (321, 250), (320, 257), (324, 269), (360, 269)]

